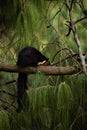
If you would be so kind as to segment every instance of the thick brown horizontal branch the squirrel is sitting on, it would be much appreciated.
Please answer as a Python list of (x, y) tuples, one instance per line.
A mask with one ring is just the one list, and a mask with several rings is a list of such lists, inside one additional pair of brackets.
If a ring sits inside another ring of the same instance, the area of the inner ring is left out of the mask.
[(74, 67), (57, 67), (57, 66), (37, 66), (37, 67), (25, 67), (20, 68), (16, 65), (0, 63), (0, 71), (5, 72), (22, 72), (22, 73), (31, 73), (42, 72), (46, 75), (69, 75), (76, 73)]

